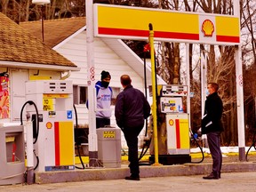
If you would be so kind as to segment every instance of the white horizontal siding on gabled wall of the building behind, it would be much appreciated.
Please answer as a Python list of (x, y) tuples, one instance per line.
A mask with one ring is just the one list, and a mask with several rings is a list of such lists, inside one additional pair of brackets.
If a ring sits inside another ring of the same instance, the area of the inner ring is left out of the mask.
[[(95, 61), (95, 83), (100, 80), (100, 72), (107, 70), (111, 75), (110, 86), (120, 87), (120, 76), (127, 74), (132, 78), (132, 85), (135, 88), (144, 92), (144, 81), (124, 60), (122, 60), (113, 50), (111, 50), (107, 44), (100, 40), (100, 38), (94, 38), (94, 61)], [(70, 39), (66, 44), (62, 44), (57, 48), (57, 52), (60, 52), (68, 60), (71, 60), (77, 67), (81, 68), (80, 71), (72, 72), (68, 80), (72, 80), (73, 84), (87, 85), (87, 59), (86, 59), (86, 32), (82, 32), (77, 36)], [(116, 119), (114, 116), (114, 109), (111, 116), (111, 124), (116, 126)], [(88, 124), (88, 109), (85, 105), (76, 106), (78, 124)], [(142, 132), (141, 132), (142, 133)], [(142, 133), (144, 135), (144, 133)], [(124, 138), (122, 139), (122, 146), (125, 147), (126, 143)]]

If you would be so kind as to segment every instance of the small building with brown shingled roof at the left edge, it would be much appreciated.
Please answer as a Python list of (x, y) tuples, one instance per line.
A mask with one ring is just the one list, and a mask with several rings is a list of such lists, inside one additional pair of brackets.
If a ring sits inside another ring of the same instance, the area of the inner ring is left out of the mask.
[(20, 123), (26, 81), (61, 79), (79, 68), (1, 12), (0, 26), (0, 123)]

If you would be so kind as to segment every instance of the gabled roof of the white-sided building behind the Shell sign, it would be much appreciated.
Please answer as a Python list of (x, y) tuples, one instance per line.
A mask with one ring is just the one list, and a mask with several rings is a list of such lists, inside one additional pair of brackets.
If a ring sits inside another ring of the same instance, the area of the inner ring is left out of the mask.
[[(54, 48), (65, 39), (76, 34), (78, 30), (85, 28), (86, 18), (68, 18), (59, 20), (44, 20), (44, 43)], [(23, 28), (28, 28), (28, 31), (42, 38), (41, 34), (41, 21), (28, 21), (20, 23)], [(54, 33), (52, 33), (54, 31)], [(132, 50), (124, 44), (120, 39), (100, 38), (105, 44), (108, 45), (116, 54), (124, 60), (133, 70), (136, 71), (141, 77), (144, 77), (143, 60)], [(147, 65), (147, 82), (151, 84), (151, 67)], [(166, 84), (164, 80), (157, 76), (159, 84)]]

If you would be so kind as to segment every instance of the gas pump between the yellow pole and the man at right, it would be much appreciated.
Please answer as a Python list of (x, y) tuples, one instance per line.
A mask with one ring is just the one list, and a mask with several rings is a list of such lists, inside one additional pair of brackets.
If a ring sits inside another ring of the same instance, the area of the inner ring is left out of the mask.
[[(165, 132), (158, 130), (159, 133), (157, 133), (159, 135), (158, 140), (164, 140), (162, 145), (158, 141), (159, 163), (190, 163), (189, 120), (188, 113), (184, 110), (186, 104), (182, 100), (188, 96), (188, 87), (180, 84), (163, 84), (158, 85), (158, 90), (160, 90), (158, 92), (158, 111), (160, 110), (158, 115), (164, 116), (162, 119), (166, 124)], [(154, 154), (151, 155), (149, 161), (155, 161)]]

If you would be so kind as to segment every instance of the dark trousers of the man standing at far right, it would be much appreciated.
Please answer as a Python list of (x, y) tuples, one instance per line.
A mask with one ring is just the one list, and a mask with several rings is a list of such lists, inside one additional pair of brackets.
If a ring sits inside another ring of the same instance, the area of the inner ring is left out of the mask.
[(210, 132), (206, 135), (213, 161), (212, 172), (219, 175), (222, 165), (222, 154), (220, 150), (220, 132)]

